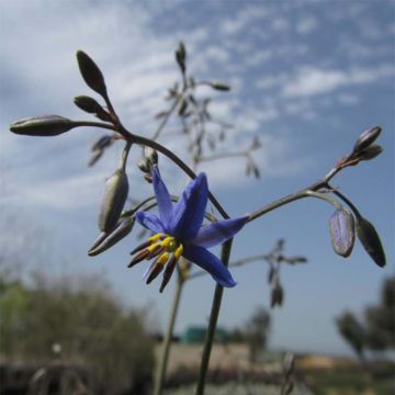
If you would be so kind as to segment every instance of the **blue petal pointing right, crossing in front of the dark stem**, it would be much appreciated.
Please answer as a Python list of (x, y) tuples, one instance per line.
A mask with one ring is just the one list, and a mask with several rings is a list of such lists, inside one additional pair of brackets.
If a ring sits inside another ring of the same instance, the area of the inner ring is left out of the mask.
[(248, 215), (203, 226), (199, 230), (198, 236), (190, 242), (205, 248), (216, 246), (235, 236), (245, 226), (247, 221)]

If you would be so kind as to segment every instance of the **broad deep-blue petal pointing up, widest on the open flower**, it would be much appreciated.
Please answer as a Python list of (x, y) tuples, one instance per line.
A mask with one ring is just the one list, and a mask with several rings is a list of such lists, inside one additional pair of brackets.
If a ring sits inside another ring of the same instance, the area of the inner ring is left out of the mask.
[(200, 173), (188, 184), (174, 205), (169, 233), (182, 240), (194, 238), (203, 223), (207, 196), (207, 178)]

